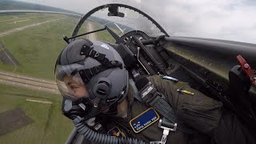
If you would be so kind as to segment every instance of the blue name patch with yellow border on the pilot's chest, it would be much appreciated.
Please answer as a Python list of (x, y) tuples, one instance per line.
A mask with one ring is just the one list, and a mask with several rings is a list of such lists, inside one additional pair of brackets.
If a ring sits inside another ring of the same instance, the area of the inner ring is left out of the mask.
[(142, 114), (139, 114), (137, 117), (130, 120), (130, 126), (135, 133), (138, 133), (146, 127), (152, 125), (154, 122), (157, 122), (159, 119), (158, 113), (151, 107), (148, 110), (145, 110)]

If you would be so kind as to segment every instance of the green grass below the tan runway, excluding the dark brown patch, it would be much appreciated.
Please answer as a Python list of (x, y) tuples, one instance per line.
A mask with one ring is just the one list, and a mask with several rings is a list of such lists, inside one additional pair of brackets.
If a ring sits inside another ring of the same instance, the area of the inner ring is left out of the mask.
[[(34, 90), (0, 85), (0, 112), (20, 107), (33, 122), (0, 136), (0, 143), (64, 143), (69, 136), (71, 121), (61, 114), (61, 97)], [(52, 104), (26, 102), (26, 99)]]

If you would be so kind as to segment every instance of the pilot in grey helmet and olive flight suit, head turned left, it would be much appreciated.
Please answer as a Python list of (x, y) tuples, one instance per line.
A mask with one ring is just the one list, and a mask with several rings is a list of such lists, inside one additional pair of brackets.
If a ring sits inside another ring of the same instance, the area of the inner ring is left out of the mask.
[[(246, 127), (224, 110), (222, 102), (186, 82), (174, 83), (154, 75), (138, 77), (135, 85), (121, 56), (104, 42), (71, 42), (58, 57), (55, 75), (63, 102), (69, 99), (82, 107), (80, 116), (90, 121), (92, 128), (100, 123), (101, 129), (95, 128), (99, 133), (146, 143), (254, 143)], [(160, 96), (143, 99), (150, 90), (154, 90), (151, 95)], [(75, 118), (73, 113), (63, 113)]]

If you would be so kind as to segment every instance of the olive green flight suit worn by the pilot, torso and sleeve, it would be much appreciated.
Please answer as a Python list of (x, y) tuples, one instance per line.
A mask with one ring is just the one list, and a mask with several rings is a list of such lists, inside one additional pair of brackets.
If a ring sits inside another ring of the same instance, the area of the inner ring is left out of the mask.
[[(254, 139), (238, 121), (238, 118), (223, 110), (222, 102), (190, 88), (185, 82), (174, 83), (162, 79), (158, 75), (150, 76), (148, 79), (159, 92), (166, 96), (178, 117), (182, 118), (187, 126), (197, 131), (195, 134), (185, 134), (180, 130), (170, 131), (166, 144), (254, 143)], [(188, 90), (194, 95), (178, 93), (178, 89)], [(127, 119), (110, 118), (108, 124), (118, 126), (128, 137), (139, 138), (146, 142), (161, 141), (163, 130), (158, 127), (158, 122), (154, 122), (138, 134), (134, 133), (129, 126), (132, 118), (142, 114), (148, 108), (150, 106), (134, 98), (134, 92), (130, 86)], [(110, 122), (114, 122), (114, 124), (110, 124)]]

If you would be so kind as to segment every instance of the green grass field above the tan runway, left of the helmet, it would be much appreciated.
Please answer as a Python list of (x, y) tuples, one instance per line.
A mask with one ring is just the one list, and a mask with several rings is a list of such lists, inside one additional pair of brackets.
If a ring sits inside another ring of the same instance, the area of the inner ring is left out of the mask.
[[(0, 38), (0, 42), (21, 63), (16, 73), (54, 79), (56, 59), (66, 46), (66, 42), (62, 40), (63, 34), (70, 36), (78, 22), (78, 18), (64, 18), (66, 19), (34, 26)], [(14, 66), (0, 64), (0, 67), (3, 70), (14, 70)]]

